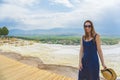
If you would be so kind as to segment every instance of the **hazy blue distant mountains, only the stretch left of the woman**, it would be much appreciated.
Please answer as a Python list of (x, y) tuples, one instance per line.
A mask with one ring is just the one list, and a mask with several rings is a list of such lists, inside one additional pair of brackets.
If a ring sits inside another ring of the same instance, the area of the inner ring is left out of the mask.
[(80, 28), (53, 28), (53, 29), (36, 29), (36, 30), (20, 30), (12, 29), (9, 32), (11, 36), (19, 35), (81, 35), (83, 30)]

